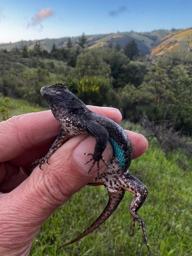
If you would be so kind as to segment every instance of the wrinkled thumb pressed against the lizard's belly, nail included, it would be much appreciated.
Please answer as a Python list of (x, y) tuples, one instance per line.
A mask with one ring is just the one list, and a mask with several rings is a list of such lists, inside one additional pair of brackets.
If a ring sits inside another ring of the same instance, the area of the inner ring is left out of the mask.
[[(74, 136), (55, 151), (49, 164), (42, 165), (43, 170), (37, 166), (20, 186), (1, 198), (1, 223), (6, 226), (0, 224), (0, 246), (6, 242), (10, 250), (7, 255), (18, 248), (19, 254), (13, 255), (27, 255), (22, 253), (30, 250), (32, 239), (52, 212), (97, 177), (96, 165), (90, 173), (92, 163), (84, 165), (90, 159), (84, 153), (93, 152), (94, 147), (95, 138), (85, 134)], [(111, 144), (103, 156), (106, 161), (111, 159)], [(100, 173), (105, 170), (100, 161)]]

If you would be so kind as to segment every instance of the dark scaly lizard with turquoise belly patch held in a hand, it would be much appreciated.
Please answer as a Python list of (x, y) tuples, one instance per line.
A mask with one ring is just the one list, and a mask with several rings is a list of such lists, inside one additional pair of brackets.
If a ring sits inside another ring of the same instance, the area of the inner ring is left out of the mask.
[[(91, 135), (96, 138), (95, 149), (93, 153), (84, 153), (90, 156), (90, 159), (85, 164), (93, 161), (89, 172), (97, 164), (97, 177), (87, 185), (94, 183), (102, 184), (108, 190), (109, 195), (108, 204), (96, 221), (83, 233), (63, 246), (80, 240), (104, 223), (122, 201), (125, 191), (128, 191), (135, 195), (129, 204), (129, 212), (132, 216), (130, 236), (134, 233), (135, 221), (137, 221), (139, 224), (138, 229), (141, 228), (143, 231), (144, 243), (150, 254), (145, 223), (137, 213), (147, 198), (148, 189), (140, 180), (127, 172), (132, 160), (132, 146), (124, 129), (111, 119), (98, 115), (88, 109), (77, 96), (67, 89), (65, 84), (56, 83), (52, 86), (44, 86), (41, 88), (41, 95), (48, 102), (54, 117), (61, 123), (62, 127), (48, 153), (42, 159), (36, 160), (33, 166), (39, 165), (39, 168), (42, 169), (42, 164), (48, 163), (49, 157), (69, 137), (77, 134)], [(113, 148), (113, 157), (110, 165), (102, 155), (108, 140)], [(100, 160), (107, 166), (107, 170), (101, 175), (99, 175)]]

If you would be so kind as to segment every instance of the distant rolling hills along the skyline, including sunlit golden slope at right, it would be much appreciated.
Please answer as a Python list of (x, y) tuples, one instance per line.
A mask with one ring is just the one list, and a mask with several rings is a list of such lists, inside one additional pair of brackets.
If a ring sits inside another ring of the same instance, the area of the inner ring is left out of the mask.
[[(159, 29), (151, 32), (138, 33), (134, 31), (130, 32), (117, 32), (110, 34), (100, 34), (100, 35), (86, 35), (87, 38), (87, 47), (108, 47), (115, 45), (119, 42), (121, 47), (124, 47), (132, 39), (138, 45), (140, 52), (144, 54), (151, 54), (151, 56), (163, 55), (167, 51), (171, 51), (177, 45), (186, 44), (186, 38), (188, 35), (192, 35), (192, 29)], [(74, 45), (77, 45), (76, 41), (79, 36), (72, 37), (71, 41)], [(8, 44), (0, 44), (0, 49), (6, 49), (10, 51), (12, 48), (21, 48), (23, 45), (27, 45), (29, 49), (32, 49), (36, 42), (40, 42), (41, 47), (47, 51), (51, 50), (53, 43), (57, 48), (65, 47), (65, 42), (68, 37), (62, 38), (46, 38), (42, 40), (29, 40), (29, 41), (18, 41)]]

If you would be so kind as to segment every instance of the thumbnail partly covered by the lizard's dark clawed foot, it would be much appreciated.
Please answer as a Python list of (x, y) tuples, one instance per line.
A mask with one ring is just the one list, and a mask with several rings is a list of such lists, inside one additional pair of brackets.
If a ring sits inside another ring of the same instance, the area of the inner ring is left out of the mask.
[[(74, 149), (73, 151), (73, 157), (74, 160), (76, 161), (77, 165), (79, 168), (84, 172), (87, 173), (89, 172), (89, 168), (93, 164), (93, 160), (90, 161), (89, 163), (85, 164), (86, 161), (92, 158), (92, 156), (86, 156), (84, 153), (93, 153), (95, 148), (95, 138), (88, 136), (85, 138), (81, 143)], [(103, 152), (103, 157), (105, 160), (110, 164), (110, 161), (112, 159), (113, 153), (112, 153), (112, 146), (110, 143), (107, 144), (105, 151)], [(99, 161), (99, 173), (105, 172), (107, 169), (105, 163), (103, 163), (102, 160)], [(90, 171), (89, 174), (93, 174), (97, 171), (97, 163), (93, 166), (92, 170)]]

